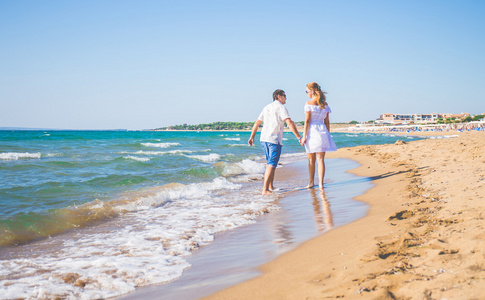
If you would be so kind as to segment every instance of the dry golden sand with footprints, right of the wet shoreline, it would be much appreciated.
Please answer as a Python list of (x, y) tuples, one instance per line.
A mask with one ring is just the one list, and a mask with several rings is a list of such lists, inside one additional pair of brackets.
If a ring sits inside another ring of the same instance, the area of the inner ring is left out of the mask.
[[(366, 217), (209, 299), (485, 299), (485, 133), (339, 149), (376, 184)], [(277, 174), (278, 175), (278, 174)]]

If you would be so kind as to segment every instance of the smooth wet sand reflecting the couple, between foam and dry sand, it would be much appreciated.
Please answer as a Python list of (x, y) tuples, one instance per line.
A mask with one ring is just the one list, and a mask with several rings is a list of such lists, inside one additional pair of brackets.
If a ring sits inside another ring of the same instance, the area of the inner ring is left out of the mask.
[[(283, 161), (283, 163), (285, 163)], [(258, 267), (301, 243), (325, 235), (365, 216), (368, 206), (352, 200), (373, 185), (369, 178), (346, 172), (358, 166), (349, 159), (327, 161), (327, 190), (302, 188), (307, 184), (306, 160), (278, 168), (273, 196), (281, 207), (257, 223), (217, 234), (215, 241), (187, 258), (192, 265), (181, 278), (163, 285), (137, 289), (117, 299), (199, 299), (261, 275)], [(284, 188), (283, 188), (284, 187)], [(345, 187), (345, 188), (343, 188)], [(258, 182), (260, 193), (261, 182)]]

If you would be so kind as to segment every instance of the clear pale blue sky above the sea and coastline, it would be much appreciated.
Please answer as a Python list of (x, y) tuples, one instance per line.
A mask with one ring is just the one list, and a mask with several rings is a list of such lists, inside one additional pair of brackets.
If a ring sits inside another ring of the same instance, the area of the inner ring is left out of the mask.
[(0, 1), (0, 127), (485, 113), (485, 1)]

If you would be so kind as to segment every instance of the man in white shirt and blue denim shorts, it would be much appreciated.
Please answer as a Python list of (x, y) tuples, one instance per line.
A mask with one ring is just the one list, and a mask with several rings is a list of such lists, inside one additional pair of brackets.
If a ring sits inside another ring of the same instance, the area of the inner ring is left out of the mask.
[(266, 155), (266, 172), (264, 173), (263, 195), (271, 193), (274, 189), (273, 181), (276, 166), (281, 155), (283, 141), (284, 124), (291, 129), (293, 134), (301, 140), (300, 133), (296, 129), (295, 123), (290, 119), (288, 110), (283, 105), (286, 103), (286, 94), (283, 90), (276, 90), (273, 93), (273, 103), (266, 105), (254, 122), (251, 130), (251, 137), (248, 140), (249, 146), (254, 145), (254, 136), (258, 131), (259, 125), (264, 122), (261, 130), (261, 147)]

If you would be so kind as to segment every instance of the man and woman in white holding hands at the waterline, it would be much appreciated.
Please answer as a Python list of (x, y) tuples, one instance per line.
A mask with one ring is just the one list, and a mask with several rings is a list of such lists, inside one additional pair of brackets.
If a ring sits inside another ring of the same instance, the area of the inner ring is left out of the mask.
[(325, 176), (325, 152), (337, 150), (330, 136), (330, 121), (328, 114), (332, 112), (327, 105), (325, 92), (316, 82), (306, 85), (306, 93), (311, 99), (305, 104), (305, 127), (303, 136), (300, 136), (295, 123), (290, 118), (288, 110), (283, 105), (286, 103), (286, 94), (283, 90), (273, 93), (273, 103), (266, 105), (254, 122), (251, 137), (248, 140), (250, 146), (254, 145), (254, 137), (259, 125), (264, 122), (261, 130), (261, 147), (266, 155), (266, 171), (264, 173), (263, 195), (271, 193), (274, 189), (273, 181), (276, 166), (281, 155), (283, 141), (283, 129), (286, 123), (290, 130), (305, 146), (308, 156), (308, 173), (310, 182), (306, 186), (312, 188), (315, 177), (315, 162), (318, 164), (318, 186), (323, 190), (323, 178)]

